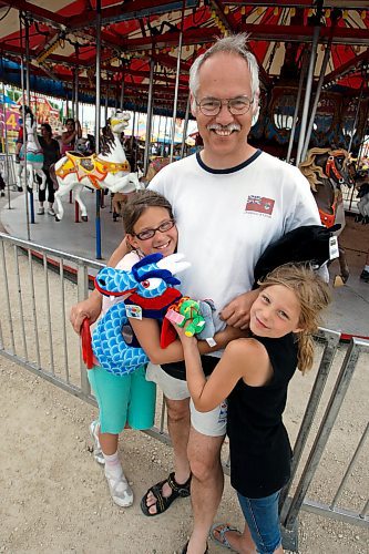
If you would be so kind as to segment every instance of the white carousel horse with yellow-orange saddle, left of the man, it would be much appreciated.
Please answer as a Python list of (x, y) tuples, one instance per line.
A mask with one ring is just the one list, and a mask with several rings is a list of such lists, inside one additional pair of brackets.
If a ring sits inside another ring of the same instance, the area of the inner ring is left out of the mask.
[(63, 218), (64, 209), (61, 198), (70, 191), (75, 192), (75, 201), (81, 208), (81, 218), (88, 220), (88, 211), (82, 202), (83, 186), (89, 188), (107, 188), (112, 193), (131, 193), (142, 187), (136, 173), (130, 172), (120, 137), (127, 126), (131, 115), (116, 110), (103, 130), (100, 154), (82, 156), (75, 152), (66, 152), (54, 165), (59, 188), (55, 193), (55, 220)]

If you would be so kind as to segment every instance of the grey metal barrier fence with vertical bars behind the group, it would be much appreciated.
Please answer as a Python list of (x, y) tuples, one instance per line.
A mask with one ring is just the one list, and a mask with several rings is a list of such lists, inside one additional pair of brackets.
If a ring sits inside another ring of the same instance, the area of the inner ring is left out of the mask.
[[(91, 276), (102, 265), (0, 234), (0, 353), (96, 404), (90, 391), (79, 338), (68, 319), (71, 306), (86, 298), (92, 287)], [(366, 479), (363, 454), (368, 424), (360, 409), (356, 414), (357, 445), (353, 453), (346, 456), (341, 473), (336, 475), (331, 497), (321, 499), (314, 491), (322, 458), (327, 451), (337, 454), (330, 437), (338, 432), (337, 422), (345, 410), (345, 398), (352, 389), (352, 378), (359, 372), (361, 378), (368, 377), (369, 341), (355, 338), (349, 346), (342, 347), (339, 340), (340, 334), (328, 329), (321, 329), (317, 337), (316, 378), (304, 384), (307, 402), (298, 407), (295, 418), (301, 421), (298, 430), (291, 428), (293, 418), (288, 407), (286, 410), (286, 427), (290, 434), (296, 434), (293, 479), (280, 503), (284, 546), (289, 550), (297, 551), (296, 523), (300, 510), (369, 529), (369, 503), (362, 490), (361, 494), (352, 495), (349, 503), (344, 494), (353, 471), (360, 480)], [(346, 351), (344, 357), (342, 349)], [(170, 442), (162, 398), (157, 400), (155, 427), (148, 433)], [(227, 448), (224, 450), (227, 472)], [(307, 497), (308, 492), (311, 499)]]

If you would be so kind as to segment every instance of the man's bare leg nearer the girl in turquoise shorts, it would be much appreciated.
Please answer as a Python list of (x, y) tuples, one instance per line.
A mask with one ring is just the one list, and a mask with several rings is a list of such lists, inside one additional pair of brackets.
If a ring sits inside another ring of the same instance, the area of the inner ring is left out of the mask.
[[(173, 445), (174, 479), (178, 484), (184, 484), (189, 478), (189, 463), (187, 459), (187, 443), (189, 434), (189, 399), (170, 400), (165, 398), (167, 408), (167, 428)], [(172, 489), (164, 483), (162, 494), (171, 496)], [(146, 505), (151, 514), (156, 514), (156, 499), (152, 492), (147, 494)]]

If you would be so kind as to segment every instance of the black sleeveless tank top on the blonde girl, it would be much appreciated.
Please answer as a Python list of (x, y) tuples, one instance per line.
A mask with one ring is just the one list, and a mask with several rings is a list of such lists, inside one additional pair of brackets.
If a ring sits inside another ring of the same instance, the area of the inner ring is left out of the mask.
[(274, 375), (264, 387), (237, 382), (228, 397), (227, 433), (232, 486), (260, 499), (277, 492), (290, 476), (291, 449), (281, 416), (297, 367), (297, 343), (293, 334), (254, 338), (266, 348)]

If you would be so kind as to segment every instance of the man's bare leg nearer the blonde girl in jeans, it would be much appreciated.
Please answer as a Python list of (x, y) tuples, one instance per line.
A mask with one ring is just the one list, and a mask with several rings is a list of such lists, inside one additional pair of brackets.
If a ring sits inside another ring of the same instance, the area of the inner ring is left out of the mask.
[(206, 551), (208, 532), (224, 486), (221, 464), (223, 441), (224, 437), (207, 437), (191, 428), (187, 452), (192, 471), (194, 527), (187, 546), (188, 554), (204, 554)]

